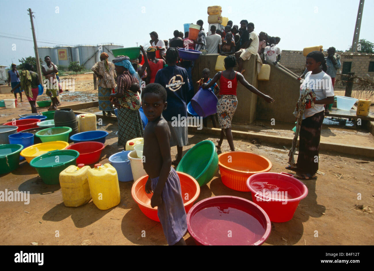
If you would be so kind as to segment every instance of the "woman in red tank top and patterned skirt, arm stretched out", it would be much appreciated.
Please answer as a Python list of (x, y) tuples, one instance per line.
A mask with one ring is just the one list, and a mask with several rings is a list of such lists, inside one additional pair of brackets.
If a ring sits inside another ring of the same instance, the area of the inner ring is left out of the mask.
[(272, 103), (274, 102), (274, 100), (272, 97), (265, 95), (264, 93), (257, 90), (257, 88), (249, 84), (240, 72), (234, 71), (234, 67), (237, 65), (235, 56), (230, 55), (226, 57), (224, 59), (224, 63), (226, 70), (223, 72), (217, 72), (212, 81), (210, 81), (209, 84), (203, 84), (202, 88), (209, 88), (214, 85), (215, 82), (220, 80), (220, 93), (218, 94), (217, 114), (218, 122), (220, 122), (221, 127), (221, 137), (219, 140), (217, 139), (217, 148), (221, 148), (223, 138), (226, 135), (230, 149), (232, 151), (235, 151), (233, 135), (231, 133), (231, 121), (237, 106), (237, 81), (248, 88), (249, 91), (252, 91), (258, 96), (264, 98), (266, 102)]

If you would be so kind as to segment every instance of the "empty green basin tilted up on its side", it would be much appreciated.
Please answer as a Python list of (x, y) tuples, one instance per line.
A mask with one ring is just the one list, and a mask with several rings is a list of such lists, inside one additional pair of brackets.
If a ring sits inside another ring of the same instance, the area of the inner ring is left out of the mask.
[(214, 143), (204, 140), (193, 146), (182, 158), (177, 171), (195, 178), (200, 186), (209, 183), (218, 169), (218, 155)]

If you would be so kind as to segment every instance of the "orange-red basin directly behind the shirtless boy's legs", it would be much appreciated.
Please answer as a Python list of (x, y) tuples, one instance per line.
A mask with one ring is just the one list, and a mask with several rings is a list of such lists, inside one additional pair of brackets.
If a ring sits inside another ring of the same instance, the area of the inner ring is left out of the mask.
[[(179, 180), (181, 181), (184, 209), (186, 210), (186, 213), (188, 213), (197, 197), (199, 197), (200, 186), (190, 175), (183, 172), (177, 172), (177, 174), (179, 176)], [(154, 221), (160, 222), (159, 218), (157, 217), (157, 207), (151, 207), (151, 197), (153, 194), (145, 193), (145, 183), (147, 180), (148, 175), (139, 178), (132, 185), (131, 195), (135, 202), (138, 203), (143, 214)], [(186, 193), (188, 193), (188, 195), (186, 195)]]

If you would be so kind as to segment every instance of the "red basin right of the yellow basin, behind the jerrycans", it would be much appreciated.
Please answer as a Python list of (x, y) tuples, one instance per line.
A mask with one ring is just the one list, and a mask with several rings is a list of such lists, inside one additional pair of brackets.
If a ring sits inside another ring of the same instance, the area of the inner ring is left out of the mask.
[(70, 146), (67, 146), (65, 150), (76, 150), (77, 152), (79, 152), (77, 165), (91, 165), (99, 161), (101, 151), (104, 149), (104, 147), (105, 145), (101, 142), (85, 141), (71, 144)]

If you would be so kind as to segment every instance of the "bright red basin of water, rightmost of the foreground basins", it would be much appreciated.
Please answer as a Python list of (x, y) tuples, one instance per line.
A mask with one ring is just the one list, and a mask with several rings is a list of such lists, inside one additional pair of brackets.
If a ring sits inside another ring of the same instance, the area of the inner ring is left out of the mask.
[(248, 178), (246, 185), (251, 190), (252, 200), (273, 222), (291, 220), (300, 200), (308, 194), (305, 184), (285, 172), (257, 173)]

